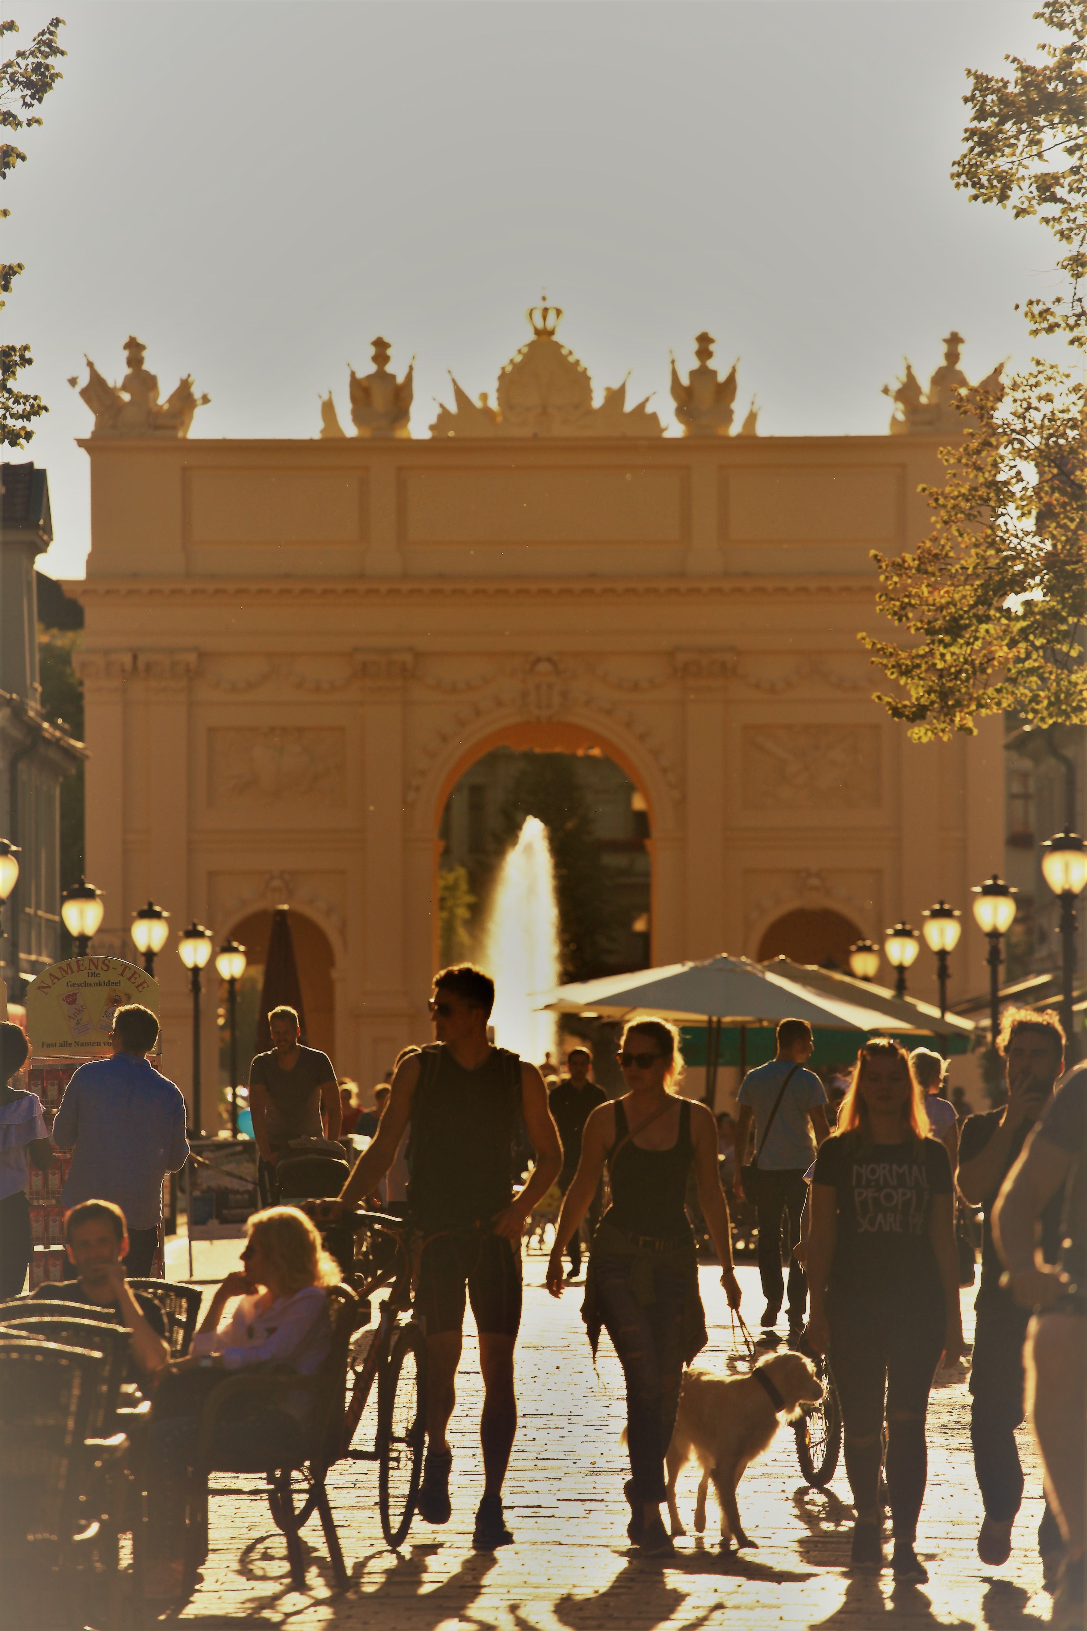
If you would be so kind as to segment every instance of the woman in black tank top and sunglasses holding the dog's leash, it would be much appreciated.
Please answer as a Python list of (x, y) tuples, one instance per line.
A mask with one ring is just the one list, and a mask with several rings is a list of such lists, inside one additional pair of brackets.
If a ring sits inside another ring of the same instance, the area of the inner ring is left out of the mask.
[(627, 1535), (642, 1551), (660, 1554), (673, 1549), (660, 1502), (680, 1381), (683, 1367), (706, 1346), (694, 1236), (683, 1207), (691, 1166), (730, 1308), (740, 1306), (740, 1287), (717, 1169), (717, 1124), (704, 1104), (671, 1091), (683, 1070), (675, 1026), (663, 1019), (627, 1024), (619, 1063), (627, 1091), (585, 1122), (582, 1160), (548, 1262), (548, 1290), (562, 1293), (562, 1253), (606, 1161), (611, 1207), (593, 1236), (582, 1316), (593, 1354), (601, 1324), (606, 1328), (626, 1378)]

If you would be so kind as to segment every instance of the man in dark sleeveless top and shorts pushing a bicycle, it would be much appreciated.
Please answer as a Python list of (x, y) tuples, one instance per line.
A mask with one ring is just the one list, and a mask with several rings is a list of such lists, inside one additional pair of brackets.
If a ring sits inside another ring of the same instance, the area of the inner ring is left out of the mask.
[[(484, 1496), (474, 1546), (513, 1540), (502, 1515), (502, 1481), (517, 1432), (513, 1347), (521, 1319), (521, 1235), (528, 1215), (562, 1168), (548, 1090), (535, 1065), (492, 1047), (487, 1019), (494, 980), (471, 964), (442, 969), (430, 1018), (435, 1044), (404, 1059), (376, 1137), (359, 1156), (323, 1220), (372, 1194), (393, 1165), (411, 1124), (409, 1218), (420, 1241), (416, 1316), (427, 1336), (427, 1460), (417, 1510), (427, 1523), (450, 1520), (453, 1453), (447, 1429), (456, 1403), (464, 1302), (479, 1328), (484, 1406)], [(513, 1194), (513, 1147), (521, 1117), (536, 1166)]]

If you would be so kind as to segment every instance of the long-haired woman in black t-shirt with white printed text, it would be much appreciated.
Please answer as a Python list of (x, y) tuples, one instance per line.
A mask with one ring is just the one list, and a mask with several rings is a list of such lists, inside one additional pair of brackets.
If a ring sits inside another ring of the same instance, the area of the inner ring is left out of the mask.
[(856, 1507), (852, 1562), (883, 1564), (880, 1435), (887, 1388), (887, 1492), (893, 1571), (927, 1580), (914, 1553), (927, 1478), (924, 1417), (940, 1354), (963, 1352), (952, 1166), (929, 1137), (909, 1055), (877, 1037), (860, 1049), (820, 1147), (810, 1191), (808, 1341), (838, 1385)]

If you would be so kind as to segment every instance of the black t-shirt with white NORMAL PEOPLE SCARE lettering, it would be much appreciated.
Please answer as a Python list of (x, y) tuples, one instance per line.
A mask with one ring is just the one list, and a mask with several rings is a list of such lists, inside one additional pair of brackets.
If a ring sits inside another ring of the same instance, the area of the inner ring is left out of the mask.
[(874, 1145), (856, 1130), (831, 1134), (812, 1182), (838, 1194), (831, 1290), (860, 1302), (939, 1290), (931, 1202), (952, 1192), (952, 1163), (939, 1138)]

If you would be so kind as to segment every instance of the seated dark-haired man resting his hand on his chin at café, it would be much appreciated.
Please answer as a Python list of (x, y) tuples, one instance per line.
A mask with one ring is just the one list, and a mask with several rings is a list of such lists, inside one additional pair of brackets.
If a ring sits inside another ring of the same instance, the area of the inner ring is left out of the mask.
[[(127, 1282), (121, 1261), (129, 1251), (124, 1212), (112, 1200), (81, 1200), (64, 1222), (64, 1238), (78, 1279), (46, 1280), (31, 1298), (112, 1308), (132, 1333), (127, 1380), (143, 1386), (168, 1362), (169, 1346), (161, 1308)], [(72, 1316), (78, 1319), (78, 1306)]]

